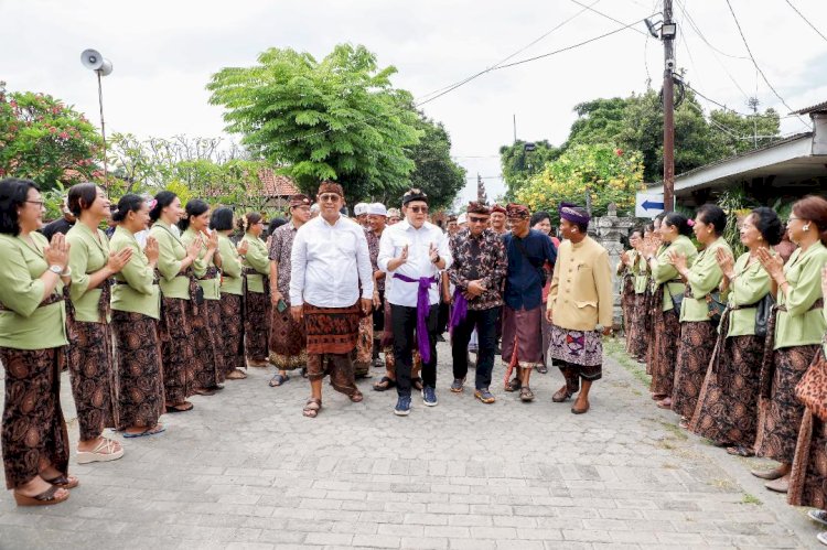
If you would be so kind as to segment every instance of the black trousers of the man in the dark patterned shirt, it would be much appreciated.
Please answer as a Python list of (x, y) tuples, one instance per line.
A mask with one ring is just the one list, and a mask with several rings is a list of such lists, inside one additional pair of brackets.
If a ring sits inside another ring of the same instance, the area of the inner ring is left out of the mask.
[(496, 348), (497, 320), (500, 308), (487, 310), (468, 310), (465, 319), (453, 328), (451, 354), (453, 356), (453, 377), (468, 376), (468, 344), (471, 333), (476, 328), (479, 351), (476, 353), (476, 389), (488, 389), (491, 371), (494, 369), (494, 351)]

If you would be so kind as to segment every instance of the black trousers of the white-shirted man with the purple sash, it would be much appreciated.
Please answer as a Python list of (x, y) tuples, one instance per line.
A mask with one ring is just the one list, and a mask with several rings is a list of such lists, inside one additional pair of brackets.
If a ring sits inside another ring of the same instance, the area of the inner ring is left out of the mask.
[[(437, 322), (439, 305), (431, 305), (428, 314), (428, 344), (431, 348), (431, 360), (422, 362), (422, 385), (437, 387)], [(410, 396), (410, 370), (414, 363), (414, 349), (417, 348), (415, 332), (417, 328), (417, 309), (407, 305), (390, 304), (390, 316), (394, 324), (394, 358), (396, 359), (396, 392)]]

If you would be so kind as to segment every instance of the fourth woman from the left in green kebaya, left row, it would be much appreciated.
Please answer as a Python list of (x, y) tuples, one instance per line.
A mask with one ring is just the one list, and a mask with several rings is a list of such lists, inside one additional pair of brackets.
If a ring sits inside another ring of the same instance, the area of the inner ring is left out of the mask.
[(178, 236), (184, 216), (181, 199), (171, 191), (155, 195), (149, 212), (152, 227), (150, 236), (158, 241), (158, 272), (161, 287), (161, 357), (163, 358), (163, 386), (167, 412), (185, 412), (193, 405), (186, 400), (193, 395), (195, 380), (195, 344), (192, 338), (192, 317), (198, 314), (203, 291), (198, 288), (193, 263), (201, 251), (201, 237), (189, 246)]

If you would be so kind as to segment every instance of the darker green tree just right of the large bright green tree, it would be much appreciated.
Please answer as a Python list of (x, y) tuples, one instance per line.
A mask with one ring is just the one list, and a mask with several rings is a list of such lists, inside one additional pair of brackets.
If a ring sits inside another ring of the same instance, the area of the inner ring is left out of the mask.
[[(428, 194), (431, 208), (447, 208), (465, 186), (465, 169), (451, 160), (451, 137), (441, 122), (420, 112), (417, 129), (422, 137), (408, 153), (416, 165), (410, 174), (410, 186)], [(386, 197), (388, 204), (396, 205), (399, 201), (398, 193)]]

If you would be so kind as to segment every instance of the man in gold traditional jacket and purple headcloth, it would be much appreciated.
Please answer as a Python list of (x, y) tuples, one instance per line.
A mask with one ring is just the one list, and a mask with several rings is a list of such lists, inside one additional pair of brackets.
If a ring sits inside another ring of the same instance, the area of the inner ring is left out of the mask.
[[(612, 269), (609, 252), (588, 236), (588, 213), (560, 204), (563, 241), (548, 294), (546, 319), (551, 324), (548, 356), (555, 359), (566, 384), (551, 398), (562, 402), (580, 391), (571, 412), (589, 410), (589, 390), (602, 376), (601, 333), (612, 332)], [(582, 382), (582, 384), (581, 384)], [(581, 388), (582, 387), (582, 388)]]

